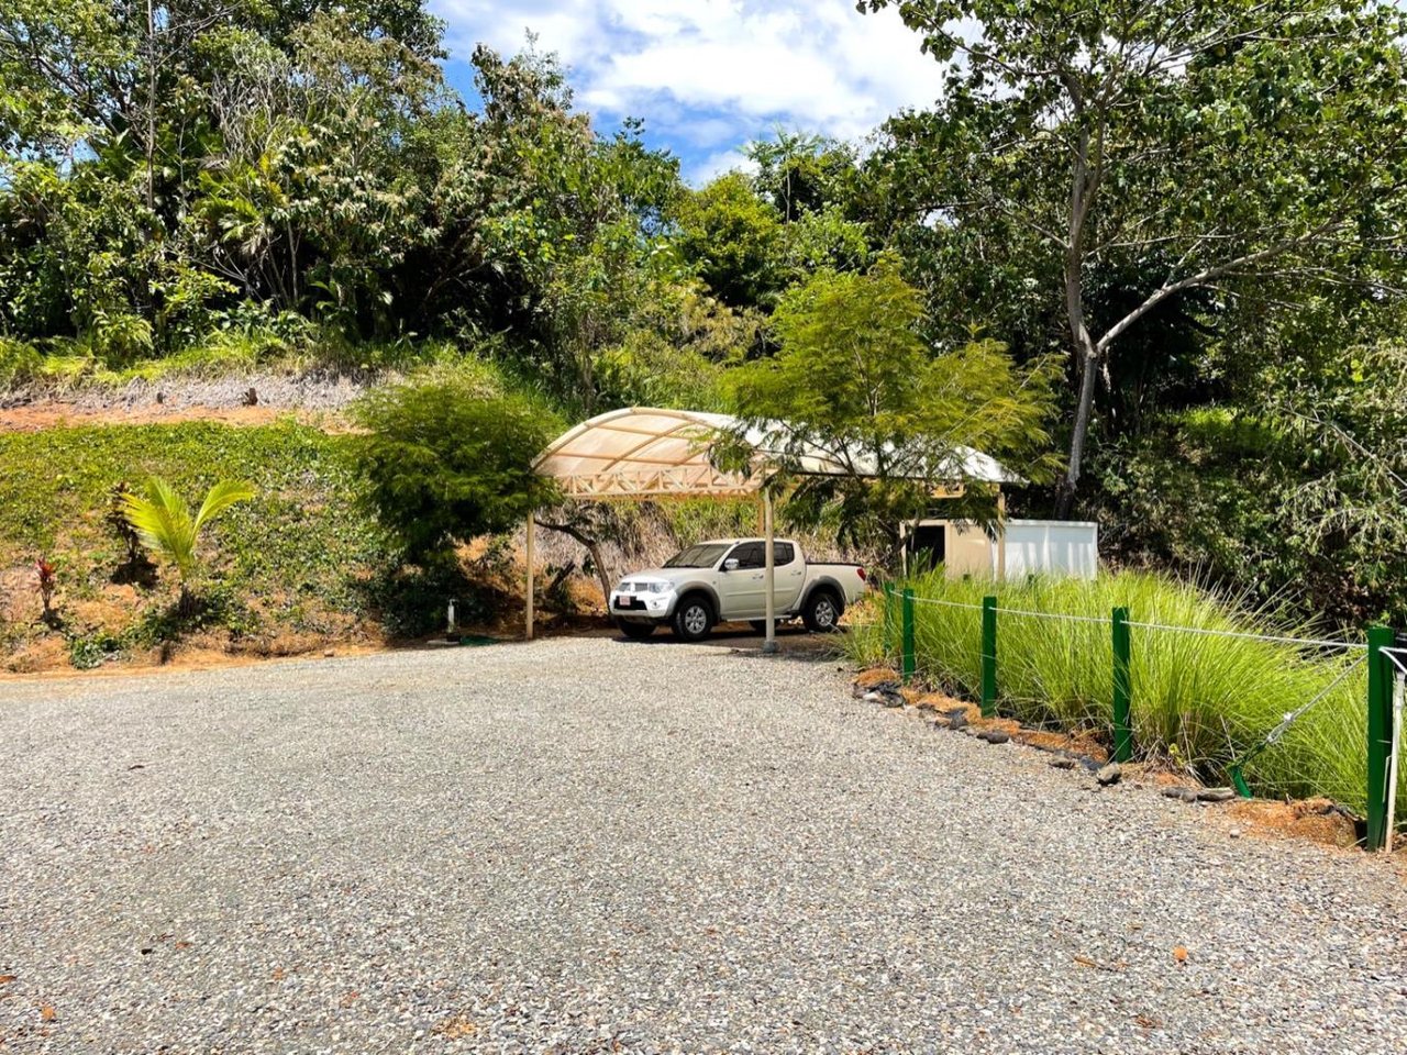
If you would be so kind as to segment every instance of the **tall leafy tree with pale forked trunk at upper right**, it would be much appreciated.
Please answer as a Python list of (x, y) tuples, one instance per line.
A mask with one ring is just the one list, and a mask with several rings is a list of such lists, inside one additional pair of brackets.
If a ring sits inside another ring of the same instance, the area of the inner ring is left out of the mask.
[[(947, 63), (891, 124), (930, 222), (1000, 229), (1058, 276), (1075, 499), (1099, 378), (1157, 312), (1214, 290), (1397, 293), (1407, 187), (1403, 13), (1339, 0), (861, 0)], [(1107, 276), (1133, 297), (1092, 304)]]

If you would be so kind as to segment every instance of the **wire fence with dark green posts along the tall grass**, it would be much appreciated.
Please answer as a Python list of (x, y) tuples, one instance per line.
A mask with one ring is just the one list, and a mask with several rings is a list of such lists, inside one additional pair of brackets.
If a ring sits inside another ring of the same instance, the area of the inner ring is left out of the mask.
[[(923, 609), (929, 613), (920, 619)], [(940, 610), (951, 615), (943, 616)], [(998, 629), (1007, 618), (1017, 625), (1020, 620), (1040, 620), (1051, 630), (1034, 639), (1030, 632), (1019, 630), (1010, 643), (1003, 644), (1006, 639), (999, 641)], [(1057, 632), (1055, 625), (1067, 625), (1071, 632)], [(1030, 606), (1002, 608), (995, 595), (983, 596), (982, 603), (917, 596), (912, 589), (895, 589), (892, 585), (884, 588), (882, 626), (884, 651), (898, 658), (905, 681), (919, 677), (922, 636), (924, 677), (931, 679), (930, 684), (944, 686), (957, 679), (958, 688), (979, 699), (985, 716), (995, 716), (1000, 705), (1003, 713), (1012, 713), (1014, 708), (1019, 716), (1023, 710), (1051, 713), (1065, 708), (1069, 717), (1069, 703), (1086, 701), (1083, 710), (1076, 708), (1075, 722), (1065, 724), (1106, 723), (1113, 757), (1120, 762), (1131, 761), (1140, 750), (1135, 729), (1145, 737), (1141, 747), (1144, 755), (1171, 751), (1173, 757), (1179, 757), (1178, 736), (1189, 737), (1189, 729), (1193, 733), (1211, 730), (1221, 737), (1216, 768), (1228, 775), (1242, 796), (1249, 798), (1247, 774), (1251, 767), (1259, 774), (1258, 779), (1283, 789), (1286, 779), (1307, 784), (1310, 778), (1300, 779), (1296, 774), (1316, 753), (1330, 757), (1332, 772), (1313, 792), (1301, 793), (1327, 793), (1362, 809), (1369, 848), (1380, 848), (1390, 841), (1394, 823), (1392, 807), (1397, 798), (1396, 746), (1403, 723), (1399, 682), (1407, 677), (1407, 647), (1399, 646), (1394, 633), (1386, 627), (1370, 627), (1363, 641), (1293, 637), (1131, 619), (1128, 609), (1119, 606), (1112, 608), (1106, 618)], [(1107, 632), (1107, 646), (1099, 644), (1090, 634), (1095, 629)], [(1134, 630), (1140, 634), (1135, 636)], [(1172, 648), (1179, 636), (1263, 647)], [(1141, 644), (1135, 644), (1135, 637)], [(1062, 650), (1079, 651), (1081, 656), (1062, 656)], [(1248, 653), (1252, 654), (1249, 660)], [(1342, 661), (1325, 653), (1341, 656)], [(1221, 658), (1225, 658), (1225, 668), (1216, 670)], [(1197, 699), (1210, 678), (1218, 679), (1216, 686), (1223, 701), (1255, 698), (1258, 689), (1265, 688), (1256, 684), (1256, 678), (1263, 679), (1266, 670), (1273, 672), (1276, 665), (1285, 668), (1283, 674), (1273, 678), (1275, 692), (1266, 692), (1269, 703), (1255, 712), (1254, 720), (1240, 712), (1217, 713), (1207, 701)], [(1245, 678), (1245, 684), (1240, 684), (1238, 678)], [(1058, 681), (1061, 684), (1052, 686)], [(1096, 681), (1100, 684), (1096, 685)], [(1014, 682), (1020, 682), (1019, 688), (1013, 688)], [(1044, 699), (1041, 693), (1045, 693)], [(1059, 703), (1051, 693), (1062, 693), (1067, 702)], [(1292, 696), (1299, 699), (1289, 706)], [(1283, 712), (1266, 713), (1269, 705), (1282, 699), (1286, 701)], [(1332, 701), (1332, 705), (1325, 701)], [(1366, 724), (1362, 717), (1365, 702)], [(1301, 719), (1317, 708), (1328, 708), (1325, 716), (1314, 719), (1311, 730), (1299, 731)], [(1356, 748), (1352, 747), (1356, 734), (1349, 729), (1355, 722), (1354, 713), (1359, 716), (1358, 730), (1365, 734)], [(1200, 729), (1199, 722), (1203, 723)], [(1332, 743), (1321, 743), (1325, 736), (1332, 737)], [(1276, 746), (1280, 750), (1272, 764), (1259, 764), (1261, 755)]]

